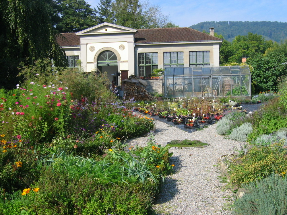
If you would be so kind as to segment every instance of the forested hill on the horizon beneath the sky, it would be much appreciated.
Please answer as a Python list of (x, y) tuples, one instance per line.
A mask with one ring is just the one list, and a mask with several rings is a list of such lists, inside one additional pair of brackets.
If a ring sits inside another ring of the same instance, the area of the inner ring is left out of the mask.
[(265, 40), (281, 42), (287, 39), (287, 22), (278, 21), (205, 21), (189, 26), (198, 31), (214, 28), (217, 34), (222, 34), (224, 39), (232, 41), (237, 35), (247, 35), (248, 32), (262, 35)]

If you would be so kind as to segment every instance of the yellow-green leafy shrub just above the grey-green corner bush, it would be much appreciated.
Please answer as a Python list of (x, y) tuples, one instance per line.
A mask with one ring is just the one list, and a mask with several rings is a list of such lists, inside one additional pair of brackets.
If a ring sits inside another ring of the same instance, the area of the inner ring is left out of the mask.
[(286, 172), (286, 149), (282, 144), (254, 146), (242, 158), (230, 164), (230, 182), (241, 186), (274, 173)]

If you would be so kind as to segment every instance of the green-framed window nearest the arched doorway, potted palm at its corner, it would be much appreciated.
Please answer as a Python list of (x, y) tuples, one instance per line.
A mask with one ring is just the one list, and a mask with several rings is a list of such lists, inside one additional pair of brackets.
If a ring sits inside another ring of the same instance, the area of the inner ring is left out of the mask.
[(139, 53), (139, 76), (148, 77), (158, 68), (158, 53)]

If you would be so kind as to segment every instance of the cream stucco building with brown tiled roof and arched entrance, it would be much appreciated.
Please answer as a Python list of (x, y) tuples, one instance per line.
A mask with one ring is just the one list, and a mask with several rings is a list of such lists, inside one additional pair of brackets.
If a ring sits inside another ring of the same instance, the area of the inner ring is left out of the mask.
[(136, 30), (110, 23), (57, 38), (70, 67), (107, 71), (111, 83), (129, 75), (149, 78), (154, 68), (218, 67), (220, 38), (191, 28)]

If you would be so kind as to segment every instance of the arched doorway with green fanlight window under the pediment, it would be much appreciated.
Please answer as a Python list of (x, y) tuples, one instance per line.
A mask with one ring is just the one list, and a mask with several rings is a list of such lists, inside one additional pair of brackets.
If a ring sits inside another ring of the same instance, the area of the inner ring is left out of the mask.
[(110, 80), (110, 86), (117, 86), (118, 78), (117, 78), (117, 71), (118, 71), (118, 59), (117, 55), (110, 51), (105, 50), (98, 55), (97, 59), (97, 68), (101, 72), (107, 72), (108, 78)]

